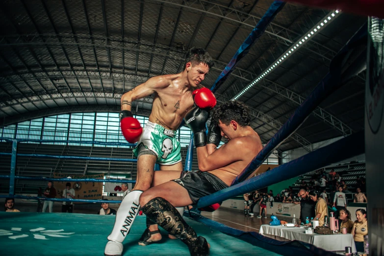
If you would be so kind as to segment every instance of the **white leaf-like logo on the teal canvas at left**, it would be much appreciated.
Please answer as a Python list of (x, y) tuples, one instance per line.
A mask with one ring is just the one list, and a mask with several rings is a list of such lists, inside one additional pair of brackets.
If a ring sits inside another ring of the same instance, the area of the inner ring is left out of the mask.
[(47, 236), (69, 237), (68, 235), (74, 234), (74, 232), (63, 233), (62, 231), (64, 230), (46, 230), (45, 228), (37, 228), (37, 229), (31, 229), (29, 231), (23, 232), (22, 228), (11, 228), (11, 230), (0, 230), (0, 236), (8, 235), (8, 238), (10, 239), (18, 239), (18, 238), (28, 237), (29, 234), (31, 234), (35, 239), (49, 240), (47, 239)]

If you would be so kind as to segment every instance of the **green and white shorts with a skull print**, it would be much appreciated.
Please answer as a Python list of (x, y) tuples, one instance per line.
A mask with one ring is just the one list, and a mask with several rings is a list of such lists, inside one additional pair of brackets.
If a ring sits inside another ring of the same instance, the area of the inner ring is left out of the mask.
[(148, 121), (143, 129), (140, 140), (133, 149), (135, 157), (151, 154), (157, 157), (156, 163), (161, 165), (174, 165), (181, 161), (180, 142), (176, 139), (176, 130)]

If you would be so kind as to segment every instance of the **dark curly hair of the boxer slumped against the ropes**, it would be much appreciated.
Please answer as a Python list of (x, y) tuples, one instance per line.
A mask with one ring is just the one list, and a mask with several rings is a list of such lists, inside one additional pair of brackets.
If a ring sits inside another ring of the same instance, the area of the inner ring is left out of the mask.
[(251, 122), (248, 107), (238, 101), (225, 102), (218, 106), (212, 114), (212, 122), (218, 123), (219, 120), (227, 126), (234, 120), (241, 127), (249, 126)]

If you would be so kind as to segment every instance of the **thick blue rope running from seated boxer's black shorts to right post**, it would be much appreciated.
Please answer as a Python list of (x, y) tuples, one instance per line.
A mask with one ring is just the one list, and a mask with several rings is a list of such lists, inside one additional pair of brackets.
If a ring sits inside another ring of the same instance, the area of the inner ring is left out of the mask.
[(316, 151), (303, 155), (295, 160), (280, 165), (270, 172), (262, 173), (254, 178), (242, 181), (209, 196), (200, 198), (197, 208), (202, 208), (232, 197), (267, 187), (277, 182), (295, 178), (310, 171), (317, 170), (331, 163), (363, 154), (365, 152), (364, 131), (342, 138)]

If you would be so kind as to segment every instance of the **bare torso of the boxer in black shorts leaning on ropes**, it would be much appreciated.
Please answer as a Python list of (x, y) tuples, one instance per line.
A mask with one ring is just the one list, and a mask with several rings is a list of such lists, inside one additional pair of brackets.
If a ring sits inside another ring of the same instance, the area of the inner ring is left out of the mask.
[[(234, 145), (233, 150), (231, 150), (233, 154), (238, 154), (240, 156), (240, 160), (232, 162), (216, 170), (209, 171), (209, 173), (223, 180), (229, 186), (233, 179), (235, 179), (244, 170), (244, 168), (263, 148), (260, 137), (255, 131), (251, 135), (241, 137), (241, 139), (246, 142), (247, 146), (239, 147)], [(228, 145), (229, 144), (227, 143), (221, 147), (228, 147)]]

